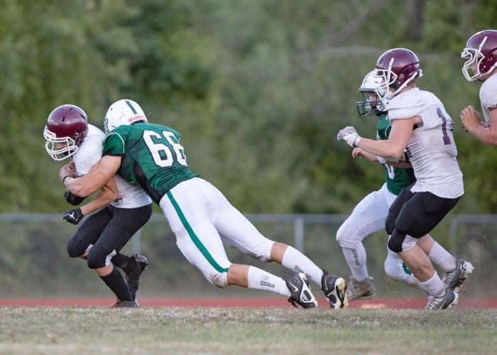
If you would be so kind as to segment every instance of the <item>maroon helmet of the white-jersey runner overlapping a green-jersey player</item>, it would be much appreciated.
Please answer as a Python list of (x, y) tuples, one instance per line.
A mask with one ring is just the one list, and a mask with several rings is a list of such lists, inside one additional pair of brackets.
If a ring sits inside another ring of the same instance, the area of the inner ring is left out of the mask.
[(376, 61), (376, 76), (382, 79), (376, 93), (382, 99), (392, 99), (417, 77), (422, 77), (420, 60), (412, 50), (393, 48)]

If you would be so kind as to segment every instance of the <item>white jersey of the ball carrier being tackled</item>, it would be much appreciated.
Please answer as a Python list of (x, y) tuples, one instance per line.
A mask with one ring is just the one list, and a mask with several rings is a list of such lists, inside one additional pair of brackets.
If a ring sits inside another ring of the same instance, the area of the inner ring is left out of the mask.
[[(83, 143), (77, 152), (72, 155), (76, 165), (76, 173), (79, 176), (86, 175), (89, 170), (102, 158), (102, 143), (104, 142), (105, 133), (97, 127), (88, 125), (87, 136), (84, 137)], [(114, 175), (116, 180), (118, 199), (111, 204), (119, 208), (136, 208), (151, 204), (152, 200), (148, 197), (141, 187), (126, 182), (119, 175)]]

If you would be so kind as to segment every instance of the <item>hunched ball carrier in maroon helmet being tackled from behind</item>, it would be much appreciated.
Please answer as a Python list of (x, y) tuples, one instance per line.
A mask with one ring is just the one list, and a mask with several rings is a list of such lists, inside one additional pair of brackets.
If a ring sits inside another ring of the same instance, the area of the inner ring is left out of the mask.
[[(80, 107), (65, 104), (54, 109), (43, 136), (53, 160), (72, 158), (61, 169), (66, 177), (87, 174), (102, 157), (104, 132), (87, 123), (87, 115)], [(84, 200), (69, 191), (65, 197), (73, 205)], [(97, 209), (99, 212), (89, 216), (69, 239), (67, 252), (72, 258), (87, 259), (88, 267), (97, 271), (116, 295), (114, 307), (138, 307), (136, 291), (148, 261), (144, 256), (126, 256), (119, 251), (151, 217), (152, 202), (141, 187), (115, 176), (102, 185), (102, 192), (94, 200), (66, 212), (63, 218), (78, 224)], [(124, 271), (126, 281), (114, 266)]]

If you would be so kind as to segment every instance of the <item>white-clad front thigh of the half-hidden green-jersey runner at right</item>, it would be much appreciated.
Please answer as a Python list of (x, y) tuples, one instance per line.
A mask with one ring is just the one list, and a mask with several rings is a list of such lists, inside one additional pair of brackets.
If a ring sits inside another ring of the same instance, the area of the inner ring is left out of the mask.
[(388, 215), (387, 194), (388, 190), (383, 186), (380, 190), (364, 197), (340, 226), (337, 239), (362, 240), (365, 236), (383, 229)]

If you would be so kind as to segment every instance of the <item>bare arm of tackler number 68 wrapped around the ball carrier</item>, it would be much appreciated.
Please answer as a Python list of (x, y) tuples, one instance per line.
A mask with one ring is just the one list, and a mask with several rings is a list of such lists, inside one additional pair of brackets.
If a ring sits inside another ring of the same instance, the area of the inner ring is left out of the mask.
[(89, 170), (87, 175), (81, 178), (72, 178), (70, 172), (64, 174), (64, 170), (60, 170), (60, 179), (64, 182), (67, 190), (81, 197), (92, 195), (92, 193), (101, 189), (104, 185), (114, 178), (114, 175), (121, 166), (121, 156), (104, 155), (102, 159)]

